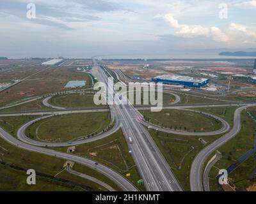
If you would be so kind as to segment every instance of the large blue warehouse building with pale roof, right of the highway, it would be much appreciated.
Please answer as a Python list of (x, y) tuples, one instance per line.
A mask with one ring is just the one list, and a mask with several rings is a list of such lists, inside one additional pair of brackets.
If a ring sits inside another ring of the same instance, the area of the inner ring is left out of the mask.
[(184, 85), (184, 87), (200, 89), (209, 84), (209, 78), (163, 75), (152, 78), (152, 82), (162, 82), (163, 84), (170, 85)]

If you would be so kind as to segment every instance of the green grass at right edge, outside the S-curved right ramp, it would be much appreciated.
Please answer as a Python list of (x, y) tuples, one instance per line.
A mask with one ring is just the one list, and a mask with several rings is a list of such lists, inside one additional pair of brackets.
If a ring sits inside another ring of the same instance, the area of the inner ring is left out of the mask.
[[(247, 111), (255, 112), (255, 110), (256, 108), (249, 108)], [(219, 169), (228, 168), (231, 164), (236, 163), (239, 157), (243, 156), (243, 154), (253, 148), (253, 143), (256, 140), (255, 122), (248, 116), (246, 111), (241, 114), (241, 122), (241, 131), (232, 138), (232, 140), (228, 141), (218, 149), (223, 156), (215, 165)], [(256, 168), (255, 162), (252, 162), (253, 160), (255, 161), (255, 156), (251, 156), (248, 161), (242, 163), (241, 166), (232, 171), (229, 175), (229, 179), (234, 182), (237, 187), (243, 190), (255, 183), (255, 181), (248, 179), (248, 174), (252, 173), (252, 170), (255, 170)], [(217, 173), (218, 170), (212, 168), (209, 174), (209, 177), (211, 178), (209, 179), (211, 191), (218, 191), (215, 179)]]

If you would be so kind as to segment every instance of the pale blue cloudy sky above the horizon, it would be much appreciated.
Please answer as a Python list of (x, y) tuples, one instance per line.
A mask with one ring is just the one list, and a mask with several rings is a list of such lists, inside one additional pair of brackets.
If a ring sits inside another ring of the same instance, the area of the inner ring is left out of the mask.
[(0, 56), (256, 50), (255, 18), (256, 1), (1, 0)]

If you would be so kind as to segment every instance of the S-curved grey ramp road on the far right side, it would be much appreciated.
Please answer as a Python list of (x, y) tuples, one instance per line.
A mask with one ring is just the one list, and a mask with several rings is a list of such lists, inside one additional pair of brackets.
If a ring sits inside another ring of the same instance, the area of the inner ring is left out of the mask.
[(252, 106), (256, 106), (256, 104), (241, 106), (237, 108), (237, 110), (234, 113), (233, 128), (226, 135), (222, 136), (218, 140), (215, 140), (197, 154), (191, 165), (190, 170), (189, 180), (191, 191), (204, 191), (204, 187), (202, 184), (202, 175), (205, 161), (212, 154), (212, 152), (217, 150), (219, 147), (221, 147), (221, 145), (225, 144), (230, 139), (234, 138), (234, 136), (236, 136), (237, 133), (239, 133), (241, 129), (241, 112), (246, 108), (250, 108)]

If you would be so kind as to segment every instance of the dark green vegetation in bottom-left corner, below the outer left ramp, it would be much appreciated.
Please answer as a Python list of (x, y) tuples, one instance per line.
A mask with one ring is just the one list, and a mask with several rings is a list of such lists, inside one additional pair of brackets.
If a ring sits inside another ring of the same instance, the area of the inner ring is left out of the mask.
[[(26, 118), (26, 117), (25, 117)], [(3, 119), (3, 118), (1, 118)], [(5, 119), (7, 120), (7, 119)], [(31, 120), (31, 118), (26, 118), (24, 119), (23, 117), (19, 117), (19, 119), (15, 117), (10, 117), (8, 119), (8, 122), (12, 124), (12, 126), (15, 126), (15, 129), (13, 130), (15, 133), (19, 126), (16, 126), (15, 124), (19, 122), (19, 124), (22, 124), (24, 122), (28, 122)], [(4, 128), (1, 125), (1, 128)], [(5, 128), (4, 128), (5, 129)], [(10, 134), (12, 134), (12, 129), (6, 129)], [(12, 134), (13, 135), (13, 134)], [(15, 135), (13, 135), (15, 136)], [(10, 169), (10, 166), (0, 166), (0, 168), (4, 168), (4, 171), (0, 171), (0, 175), (3, 175), (3, 178), (8, 177), (9, 182), (8, 182), (8, 189), (12, 191), (27, 191), (27, 190), (38, 190), (41, 191), (42, 187), (37, 186), (33, 187), (31, 186), (30, 188), (27, 186), (24, 186), (24, 182), (26, 180), (20, 180), (19, 185), (17, 185), (17, 182), (15, 178), (22, 179), (24, 178), (23, 175), (26, 175), (24, 170), (28, 170), (30, 168), (34, 169), (36, 171), (36, 174), (42, 175), (43, 177), (43, 184), (47, 184), (45, 186), (44, 190), (45, 191), (51, 191), (53, 186), (56, 186), (54, 188), (56, 189), (62, 189), (65, 190), (68, 187), (68, 191), (72, 190), (82, 190), (84, 191), (99, 191), (101, 189), (102, 191), (105, 191), (104, 187), (99, 186), (98, 184), (95, 184), (94, 182), (91, 182), (90, 180), (86, 179), (81, 179), (80, 177), (76, 177), (74, 175), (71, 175), (70, 173), (67, 173), (66, 171), (63, 170), (63, 164), (65, 163), (65, 160), (63, 159), (58, 159), (56, 157), (51, 157), (51, 156), (45, 156), (44, 154), (38, 154), (35, 152), (29, 152), (28, 150), (23, 150), (19, 149), (18, 147), (14, 147), (13, 145), (10, 145), (9, 143), (5, 142), (3, 139), (0, 138), (0, 159), (2, 162), (5, 164), (12, 164), (13, 171), (10, 171), (10, 175), (6, 175), (6, 169)], [(19, 170), (19, 171), (16, 171)], [(110, 186), (114, 187), (117, 190), (120, 190), (120, 187), (116, 186), (115, 183), (113, 183), (110, 179), (108, 179), (106, 176), (102, 175), (101, 173), (93, 170), (92, 168), (88, 168), (86, 166), (82, 166), (81, 164), (75, 164), (74, 165), (74, 170), (79, 171), (81, 173), (85, 173), (86, 175), (90, 175), (92, 177), (95, 177), (99, 180), (102, 180), (103, 182), (106, 182)], [(60, 173), (60, 171), (62, 171)], [(3, 173), (4, 172), (4, 173)], [(57, 177), (54, 178), (54, 175), (58, 174)], [(27, 177), (27, 175), (26, 175)], [(1, 177), (2, 178), (2, 177)], [(57, 179), (63, 179), (61, 180), (56, 180)], [(13, 181), (13, 182), (10, 182)], [(64, 181), (65, 180), (65, 181)], [(41, 179), (38, 180), (38, 182), (41, 182)], [(72, 182), (73, 185), (68, 186), (65, 185), (65, 182)], [(0, 186), (6, 186), (6, 179), (0, 179)], [(49, 186), (49, 187), (48, 187)], [(61, 187), (62, 186), (62, 187)], [(65, 188), (64, 188), (65, 187)], [(79, 189), (77, 189), (79, 188)]]

